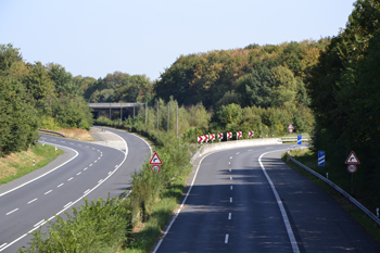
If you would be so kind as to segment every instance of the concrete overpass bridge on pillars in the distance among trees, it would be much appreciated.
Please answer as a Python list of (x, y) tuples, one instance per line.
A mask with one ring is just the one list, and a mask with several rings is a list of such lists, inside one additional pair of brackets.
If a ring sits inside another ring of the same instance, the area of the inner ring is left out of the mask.
[[(136, 115), (136, 109), (147, 106), (147, 103), (88, 103), (94, 118), (106, 116), (110, 119), (118, 117), (126, 118)], [(115, 113), (116, 112), (116, 113)]]

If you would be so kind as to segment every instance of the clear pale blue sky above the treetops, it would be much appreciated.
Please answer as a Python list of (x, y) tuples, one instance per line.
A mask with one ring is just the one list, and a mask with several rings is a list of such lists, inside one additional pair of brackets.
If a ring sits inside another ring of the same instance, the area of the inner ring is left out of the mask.
[(152, 80), (181, 54), (338, 35), (354, 0), (0, 0), (0, 43), (74, 76)]

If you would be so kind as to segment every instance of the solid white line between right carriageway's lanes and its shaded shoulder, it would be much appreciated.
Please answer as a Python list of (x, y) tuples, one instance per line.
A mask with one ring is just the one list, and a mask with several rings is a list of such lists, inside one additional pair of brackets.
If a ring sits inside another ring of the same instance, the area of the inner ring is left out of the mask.
[(276, 190), (276, 187), (274, 185), (274, 182), (271, 181), (269, 175), (266, 173), (265, 170), (265, 167), (262, 163), (262, 157), (268, 153), (274, 153), (274, 152), (278, 152), (280, 150), (276, 150), (276, 151), (270, 151), (270, 152), (266, 152), (266, 153), (263, 153), (259, 157), (258, 157), (258, 163), (259, 163), (259, 166), (262, 167), (262, 170), (266, 177), (266, 179), (268, 180), (269, 185), (270, 185), (270, 188), (275, 194), (275, 198), (276, 198), (276, 201), (277, 201), (277, 204), (278, 204), (278, 207), (280, 208), (281, 211), (281, 215), (282, 215), (282, 219), (283, 219), (283, 223), (286, 225), (286, 228), (287, 228), (287, 232), (288, 232), (288, 236), (289, 236), (289, 240), (290, 240), (290, 244), (292, 245), (292, 249), (293, 249), (293, 253), (300, 253), (300, 249), (299, 249), (299, 245), (296, 244), (296, 240), (295, 240), (295, 237), (294, 237), (294, 233), (293, 233), (293, 229), (292, 229), (292, 226), (290, 225), (290, 222), (289, 222), (289, 218), (288, 218), (288, 215), (287, 215), (287, 211), (284, 210), (283, 207), (283, 204), (282, 204), (282, 201)]

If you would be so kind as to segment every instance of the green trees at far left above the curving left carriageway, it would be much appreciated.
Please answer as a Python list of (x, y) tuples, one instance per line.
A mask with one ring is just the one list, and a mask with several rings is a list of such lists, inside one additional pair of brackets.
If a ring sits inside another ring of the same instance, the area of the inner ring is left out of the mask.
[(91, 112), (80, 78), (59, 64), (26, 63), (20, 49), (0, 45), (0, 156), (26, 150), (37, 129), (89, 128)]

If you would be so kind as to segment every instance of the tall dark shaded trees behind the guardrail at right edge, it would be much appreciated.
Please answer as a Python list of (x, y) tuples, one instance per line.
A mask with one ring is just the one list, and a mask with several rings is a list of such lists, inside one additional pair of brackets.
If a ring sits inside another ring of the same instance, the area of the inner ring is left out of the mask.
[(379, 20), (378, 0), (356, 1), (345, 28), (321, 51), (306, 86), (316, 119), (314, 148), (325, 150), (344, 177), (349, 177), (344, 161), (354, 151), (362, 162), (355, 181), (372, 192), (365, 195), (375, 195), (376, 202), (380, 200)]

